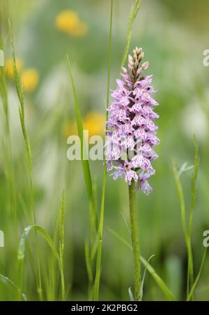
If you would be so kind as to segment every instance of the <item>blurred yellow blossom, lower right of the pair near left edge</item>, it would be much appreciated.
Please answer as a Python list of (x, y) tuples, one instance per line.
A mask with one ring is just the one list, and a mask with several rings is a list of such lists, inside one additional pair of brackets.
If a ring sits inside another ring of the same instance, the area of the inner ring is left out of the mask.
[(26, 69), (22, 71), (20, 79), (24, 86), (24, 90), (26, 92), (31, 92), (38, 85), (38, 81), (39, 81), (38, 71), (35, 68)]

